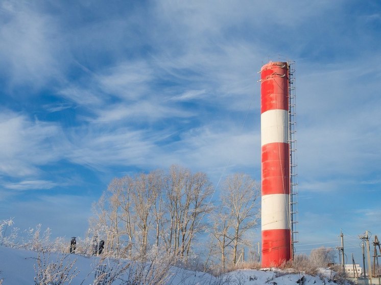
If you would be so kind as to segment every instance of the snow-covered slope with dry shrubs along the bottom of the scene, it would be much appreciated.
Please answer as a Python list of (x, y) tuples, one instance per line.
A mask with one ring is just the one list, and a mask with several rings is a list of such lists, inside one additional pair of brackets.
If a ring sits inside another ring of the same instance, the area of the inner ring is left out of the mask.
[[(38, 265), (38, 261), (40, 261), (40, 265)], [(112, 284), (115, 285), (150, 284), (150, 281), (144, 281), (144, 279), (155, 280), (155, 284), (171, 285), (337, 284), (330, 280), (329, 273), (323, 277), (309, 276), (302, 273), (290, 274), (285, 271), (244, 269), (215, 277), (208, 273), (189, 271), (177, 267), (166, 268), (165, 264), (161, 265), (162, 268), (157, 267), (157, 265), (148, 263), (142, 268), (129, 261), (117, 262), (111, 258), (102, 259), (96, 256), (86, 257), (59, 253), (38, 254), (34, 251), (0, 246), (0, 280), (3, 279), (3, 285), (31, 284), (34, 282), (34, 278), (38, 277), (38, 272), (52, 275), (52, 273), (57, 273), (58, 271), (65, 273), (59, 273), (56, 276), (57, 278), (72, 276), (72, 284), (75, 285), (111, 284), (107, 283), (107, 280), (110, 281), (112, 277), (115, 279)], [(118, 275), (118, 272), (122, 272), (122, 274)], [(156, 276), (154, 276), (155, 274)], [(42, 280), (42, 275), (40, 274), (38, 277), (40, 280)], [(132, 279), (135, 280), (135, 283), (132, 282)], [(128, 280), (130, 283), (128, 283)], [(65, 284), (68, 284), (68, 281)]]

